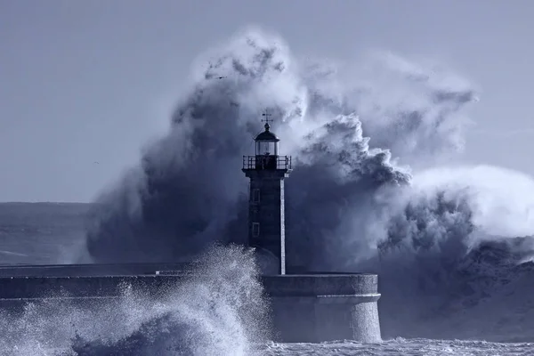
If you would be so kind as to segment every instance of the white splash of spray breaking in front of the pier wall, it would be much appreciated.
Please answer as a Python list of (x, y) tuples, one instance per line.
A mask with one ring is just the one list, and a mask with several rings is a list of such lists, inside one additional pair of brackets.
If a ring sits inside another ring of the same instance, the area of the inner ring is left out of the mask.
[(13, 356), (250, 355), (269, 338), (269, 304), (252, 251), (212, 247), (198, 269), (154, 299), (132, 289), (117, 299), (44, 300), (4, 313), (0, 350)]

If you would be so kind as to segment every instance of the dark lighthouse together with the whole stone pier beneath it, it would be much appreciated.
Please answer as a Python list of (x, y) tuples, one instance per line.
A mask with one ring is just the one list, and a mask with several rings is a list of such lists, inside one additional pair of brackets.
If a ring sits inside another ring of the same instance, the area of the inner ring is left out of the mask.
[[(291, 157), (279, 155), (279, 138), (271, 132), (268, 114), (264, 130), (255, 136), (254, 156), (243, 157), (243, 173), (250, 179), (248, 243), (255, 247), (258, 281), (270, 305), (269, 322), (279, 343), (381, 341), (378, 319), (378, 276), (368, 273), (295, 271), (286, 274), (284, 179), (291, 173)], [(0, 312), (25, 310), (28, 303), (69, 303), (91, 307), (95, 300), (122, 298), (127, 285), (154, 303), (167, 303), (169, 291), (187, 287), (191, 277), (205, 276), (198, 263), (117, 263), (34, 265), (0, 268)], [(202, 265), (202, 263), (201, 263)], [(221, 279), (223, 283), (224, 277)], [(202, 280), (200, 280), (202, 283)], [(215, 283), (215, 288), (217, 288)], [(68, 295), (53, 297), (60, 288)], [(77, 303), (78, 303), (77, 302)], [(152, 303), (152, 302), (150, 302)], [(171, 326), (171, 328), (174, 328)]]

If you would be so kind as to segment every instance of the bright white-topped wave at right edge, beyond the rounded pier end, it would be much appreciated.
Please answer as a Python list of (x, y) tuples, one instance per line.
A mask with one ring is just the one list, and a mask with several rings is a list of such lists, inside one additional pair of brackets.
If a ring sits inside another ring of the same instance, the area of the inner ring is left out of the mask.
[[(384, 193), (390, 203), (378, 225), (387, 239), (366, 266), (380, 274), (381, 312), (391, 316), (382, 318), (384, 334), (530, 340), (534, 323), (506, 317), (534, 302), (524, 284), (534, 275), (529, 191), (534, 180), (524, 174), (457, 166), (422, 171), (394, 197)], [(513, 304), (499, 296), (516, 294), (523, 297)]]

